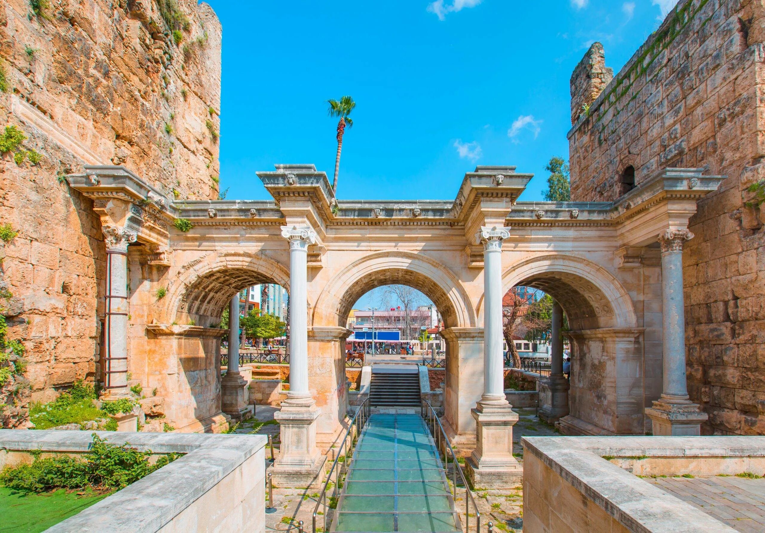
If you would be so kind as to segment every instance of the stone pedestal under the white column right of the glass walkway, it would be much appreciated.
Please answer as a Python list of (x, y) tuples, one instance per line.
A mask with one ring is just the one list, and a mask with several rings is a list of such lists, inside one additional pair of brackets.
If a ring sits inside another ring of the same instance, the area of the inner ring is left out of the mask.
[(476, 489), (513, 489), (523, 467), (513, 457), (513, 425), (518, 414), (509, 404), (483, 405), (470, 411), (477, 424), (477, 447), (465, 462)]

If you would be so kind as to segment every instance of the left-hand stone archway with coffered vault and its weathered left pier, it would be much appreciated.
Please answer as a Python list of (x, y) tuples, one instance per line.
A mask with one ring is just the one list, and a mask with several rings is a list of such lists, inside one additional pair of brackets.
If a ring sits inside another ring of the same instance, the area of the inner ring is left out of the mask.
[[(182, 253), (182, 252), (181, 252)], [(258, 252), (216, 251), (194, 258), (170, 278), (157, 299), (145, 347), (132, 353), (151, 387), (165, 398), (165, 412), (181, 431), (223, 427), (220, 317), (241, 289), (260, 283), (289, 287), (289, 272)]]

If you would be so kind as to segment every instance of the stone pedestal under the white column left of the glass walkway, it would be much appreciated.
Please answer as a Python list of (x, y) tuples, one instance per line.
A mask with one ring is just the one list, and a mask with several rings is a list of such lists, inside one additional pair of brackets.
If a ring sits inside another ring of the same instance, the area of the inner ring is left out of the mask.
[(316, 447), (316, 419), (320, 415), (314, 405), (282, 401), (282, 410), (274, 414), (282, 439), (272, 470), (275, 485), (302, 488), (324, 481), (321, 453)]

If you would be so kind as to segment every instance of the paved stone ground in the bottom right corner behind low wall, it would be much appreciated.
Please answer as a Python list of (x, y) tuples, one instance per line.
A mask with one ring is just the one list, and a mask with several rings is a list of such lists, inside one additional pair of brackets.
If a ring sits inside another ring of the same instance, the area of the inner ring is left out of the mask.
[(765, 479), (656, 477), (646, 481), (702, 509), (736, 531), (765, 531)]

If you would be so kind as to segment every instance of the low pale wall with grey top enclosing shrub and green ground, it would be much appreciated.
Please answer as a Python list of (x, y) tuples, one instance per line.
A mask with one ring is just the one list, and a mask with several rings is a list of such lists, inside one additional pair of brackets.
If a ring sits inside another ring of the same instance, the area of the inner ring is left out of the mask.
[[(48, 531), (265, 531), (262, 435), (106, 431), (99, 436), (112, 444), (186, 455)], [(2, 431), (0, 465), (8, 453), (83, 453), (91, 440), (84, 431)]]

